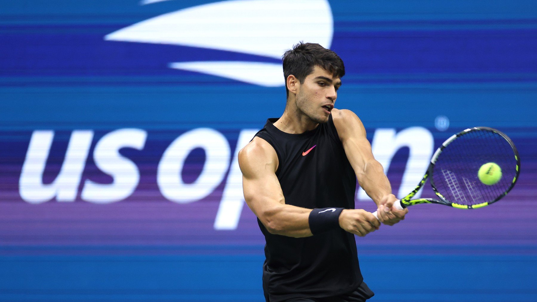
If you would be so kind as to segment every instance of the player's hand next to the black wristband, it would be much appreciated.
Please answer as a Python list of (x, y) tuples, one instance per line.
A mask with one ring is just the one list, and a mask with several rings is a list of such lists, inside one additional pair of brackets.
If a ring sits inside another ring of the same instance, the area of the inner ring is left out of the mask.
[(380, 222), (365, 210), (343, 210), (339, 215), (339, 226), (349, 233), (364, 237), (378, 230)]

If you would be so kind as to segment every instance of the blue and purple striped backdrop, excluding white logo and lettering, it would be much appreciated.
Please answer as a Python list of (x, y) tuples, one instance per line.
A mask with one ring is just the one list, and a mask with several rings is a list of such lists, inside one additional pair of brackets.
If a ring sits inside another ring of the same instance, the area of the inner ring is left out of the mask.
[[(264, 239), (255, 216), (244, 207), (235, 229), (214, 227), (233, 168), (210, 194), (187, 203), (163, 196), (156, 175), (169, 145), (198, 128), (223, 135), (233, 166), (241, 130), (263, 127), (285, 105), (283, 87), (174, 70), (169, 62), (278, 60), (104, 40), (139, 21), (206, 3), (0, 3), (0, 299), (263, 300)], [(513, 139), (522, 161), (517, 186), (491, 207), (418, 206), (401, 224), (357, 238), (372, 300), (537, 300), (537, 2), (330, 1), (330, 7), (331, 49), (347, 71), (336, 107), (357, 113), (369, 139), (380, 128), (423, 127), (438, 146), (454, 132), (489, 126)], [(449, 119), (448, 129), (435, 127), (438, 116)], [(97, 142), (124, 128), (147, 132), (142, 149), (120, 151), (136, 164), (140, 181), (120, 201), (84, 200), (84, 181), (113, 182), (92, 157)], [(21, 197), (35, 130), (55, 134), (44, 183), (60, 172), (72, 132), (93, 131), (73, 201), (32, 204)], [(395, 193), (407, 157), (403, 148), (391, 160)], [(195, 183), (206, 160), (205, 151), (190, 152), (183, 181)], [(360, 198), (357, 207), (374, 210)]]

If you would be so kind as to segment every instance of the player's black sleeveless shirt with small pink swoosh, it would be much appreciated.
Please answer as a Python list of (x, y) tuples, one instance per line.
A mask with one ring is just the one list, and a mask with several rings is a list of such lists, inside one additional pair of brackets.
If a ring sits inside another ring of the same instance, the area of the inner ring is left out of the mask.
[[(276, 176), (285, 203), (297, 207), (354, 209), (356, 176), (338, 137), (332, 115), (328, 122), (302, 134), (288, 134), (269, 119), (256, 136), (278, 155)], [(354, 235), (335, 229), (311, 237), (265, 235), (263, 288), (270, 301), (295, 297), (328, 297), (352, 292), (363, 281)]]

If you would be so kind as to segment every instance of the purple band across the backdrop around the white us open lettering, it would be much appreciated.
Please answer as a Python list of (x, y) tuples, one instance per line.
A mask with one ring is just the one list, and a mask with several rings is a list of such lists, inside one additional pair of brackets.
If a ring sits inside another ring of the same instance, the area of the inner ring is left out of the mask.
[[(226, 134), (232, 153), (237, 135), (238, 131)], [(151, 140), (149, 134), (143, 151), (123, 153), (139, 167), (140, 183), (132, 196), (110, 204), (92, 204), (79, 196), (74, 202), (30, 204), (21, 200), (18, 181), (28, 146), (24, 139), (10, 142), (9, 150), (2, 151), (0, 255), (263, 253), (263, 235), (246, 205), (236, 230), (214, 230), (226, 179), (200, 201), (179, 204), (162, 196), (155, 175), (158, 161), (172, 139)], [(436, 145), (442, 140), (438, 139)], [(66, 142), (57, 144), (47, 164), (48, 181), (59, 171), (65, 150), (62, 144)], [(503, 200), (476, 210), (416, 205), (409, 209), (404, 222), (382, 226), (365, 238), (357, 237), (359, 253), (537, 254), (537, 212), (532, 208), (537, 193), (535, 140), (519, 137), (516, 144), (522, 159), (520, 178)], [(395, 192), (407, 156), (408, 151), (398, 152), (390, 165), (388, 175)], [(203, 164), (200, 160), (205, 157), (188, 157), (183, 173), (199, 174)], [(82, 182), (84, 179), (111, 181), (91, 159)], [(425, 187), (422, 196), (433, 196), (430, 187)], [(371, 201), (357, 201), (357, 208), (374, 211), (376, 207)]]

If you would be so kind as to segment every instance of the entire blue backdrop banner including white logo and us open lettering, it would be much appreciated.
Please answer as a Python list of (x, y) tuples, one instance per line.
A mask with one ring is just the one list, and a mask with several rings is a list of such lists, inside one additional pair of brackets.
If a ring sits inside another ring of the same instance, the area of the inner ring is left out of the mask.
[(299, 41), (342, 57), (336, 108), (397, 196), (463, 129), (520, 152), (502, 201), (357, 238), (375, 299), (537, 299), (534, 1), (8, 0), (0, 41), (2, 299), (263, 300), (237, 152), (282, 114)]

